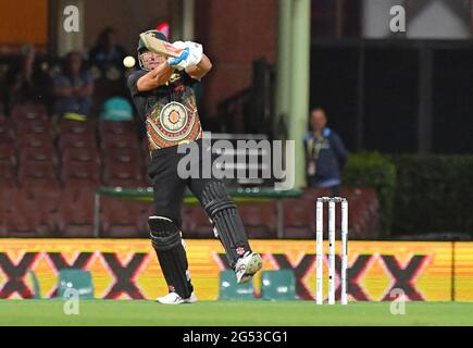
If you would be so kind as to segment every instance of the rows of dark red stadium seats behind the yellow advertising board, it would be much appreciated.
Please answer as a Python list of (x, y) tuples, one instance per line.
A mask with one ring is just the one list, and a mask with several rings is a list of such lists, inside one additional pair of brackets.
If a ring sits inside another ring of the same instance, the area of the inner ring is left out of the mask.
[[(91, 237), (98, 187), (151, 185), (147, 140), (136, 132), (134, 122), (54, 122), (37, 104), (0, 115), (0, 235)], [(313, 238), (315, 198), (329, 194), (306, 189), (301, 199), (285, 200), (285, 237)], [(341, 196), (350, 203), (350, 237), (368, 238), (378, 225), (376, 191), (344, 189)], [(152, 204), (105, 200), (102, 210), (103, 236), (148, 236)], [(239, 211), (251, 238), (277, 237), (275, 202), (239, 204)], [(182, 229), (186, 238), (213, 238), (199, 204), (184, 207)]]

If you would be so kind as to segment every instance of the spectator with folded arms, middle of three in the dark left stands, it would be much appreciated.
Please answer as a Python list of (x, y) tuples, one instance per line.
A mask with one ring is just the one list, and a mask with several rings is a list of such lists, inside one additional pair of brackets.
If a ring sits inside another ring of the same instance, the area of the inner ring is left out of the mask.
[(62, 74), (54, 78), (55, 112), (87, 116), (92, 104), (94, 79), (79, 52), (70, 52)]

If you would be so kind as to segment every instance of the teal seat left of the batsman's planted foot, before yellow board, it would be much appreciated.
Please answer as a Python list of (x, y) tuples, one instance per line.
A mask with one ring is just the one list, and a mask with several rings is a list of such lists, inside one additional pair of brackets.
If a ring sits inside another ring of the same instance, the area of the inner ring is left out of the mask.
[(92, 299), (94, 283), (91, 273), (89, 271), (74, 269), (60, 270), (58, 296), (63, 298), (65, 291), (70, 288), (77, 290), (80, 299)]

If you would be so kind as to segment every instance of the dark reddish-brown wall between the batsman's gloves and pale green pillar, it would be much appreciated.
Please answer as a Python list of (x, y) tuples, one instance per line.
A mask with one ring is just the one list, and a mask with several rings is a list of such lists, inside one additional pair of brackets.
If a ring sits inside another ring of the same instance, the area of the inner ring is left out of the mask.
[(203, 79), (202, 114), (215, 117), (220, 102), (250, 87), (254, 60), (276, 61), (277, 1), (200, 0), (196, 41), (219, 72)]

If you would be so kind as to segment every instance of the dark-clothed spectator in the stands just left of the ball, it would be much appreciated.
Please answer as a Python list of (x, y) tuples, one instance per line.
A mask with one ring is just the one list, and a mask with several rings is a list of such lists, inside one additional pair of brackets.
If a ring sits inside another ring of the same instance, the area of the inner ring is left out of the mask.
[(100, 33), (96, 46), (89, 52), (92, 64), (101, 70), (109, 65), (123, 67), (122, 61), (125, 57), (126, 52), (116, 44), (116, 32), (112, 27), (107, 27)]

